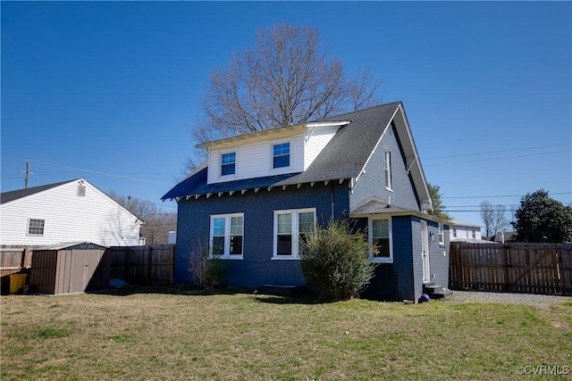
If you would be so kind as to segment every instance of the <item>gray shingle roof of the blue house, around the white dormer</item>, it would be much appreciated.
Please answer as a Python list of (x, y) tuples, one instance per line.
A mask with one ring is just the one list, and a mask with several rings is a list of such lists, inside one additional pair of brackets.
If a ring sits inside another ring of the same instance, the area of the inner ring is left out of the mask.
[(206, 184), (206, 169), (174, 186), (162, 200), (186, 195), (254, 189), (263, 186), (288, 186), (309, 182), (357, 178), (383, 134), (385, 127), (400, 107), (400, 102), (382, 104), (366, 110), (322, 118), (315, 121), (351, 122), (340, 128), (304, 172), (265, 178), (250, 178), (227, 183)]

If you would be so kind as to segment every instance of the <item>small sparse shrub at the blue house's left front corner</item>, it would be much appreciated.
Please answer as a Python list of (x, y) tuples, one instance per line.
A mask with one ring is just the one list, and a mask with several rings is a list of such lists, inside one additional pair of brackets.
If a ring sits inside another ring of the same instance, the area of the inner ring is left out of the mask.
[(220, 286), (226, 263), (218, 255), (211, 255), (208, 246), (197, 242), (189, 253), (189, 272), (195, 285), (206, 288)]

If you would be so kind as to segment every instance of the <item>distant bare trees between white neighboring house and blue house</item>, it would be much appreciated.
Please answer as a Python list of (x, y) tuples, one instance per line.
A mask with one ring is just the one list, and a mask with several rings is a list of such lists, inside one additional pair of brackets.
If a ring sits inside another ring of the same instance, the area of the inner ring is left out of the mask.
[(164, 211), (155, 203), (117, 195), (114, 191), (110, 191), (108, 195), (145, 222), (140, 228), (140, 234), (147, 239), (147, 244), (166, 244), (169, 231), (177, 228), (175, 211)]

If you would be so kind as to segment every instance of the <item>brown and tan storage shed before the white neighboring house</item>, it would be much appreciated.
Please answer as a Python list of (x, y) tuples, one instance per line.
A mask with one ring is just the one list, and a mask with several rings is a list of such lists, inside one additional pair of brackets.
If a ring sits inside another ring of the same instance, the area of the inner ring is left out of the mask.
[(32, 253), (29, 286), (40, 294), (75, 294), (109, 288), (111, 258), (89, 242), (52, 244)]

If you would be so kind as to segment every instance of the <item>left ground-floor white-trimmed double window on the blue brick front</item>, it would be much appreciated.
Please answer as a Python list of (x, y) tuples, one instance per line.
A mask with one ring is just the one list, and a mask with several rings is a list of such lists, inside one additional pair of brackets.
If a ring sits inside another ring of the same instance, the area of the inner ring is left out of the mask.
[(244, 213), (211, 216), (210, 253), (241, 260), (244, 246)]

